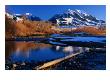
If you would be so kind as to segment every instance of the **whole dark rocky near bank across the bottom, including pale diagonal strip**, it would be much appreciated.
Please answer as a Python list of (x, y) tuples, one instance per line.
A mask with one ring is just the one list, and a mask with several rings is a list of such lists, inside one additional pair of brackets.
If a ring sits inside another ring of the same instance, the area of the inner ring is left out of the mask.
[(6, 61), (6, 70), (105, 70), (106, 51), (100, 49), (71, 54), (63, 58), (42, 62)]

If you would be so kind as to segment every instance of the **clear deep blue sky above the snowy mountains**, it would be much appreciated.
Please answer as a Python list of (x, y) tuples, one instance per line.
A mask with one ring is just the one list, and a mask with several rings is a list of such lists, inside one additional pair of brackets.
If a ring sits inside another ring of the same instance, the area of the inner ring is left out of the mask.
[(91, 14), (98, 19), (106, 19), (105, 5), (6, 5), (11, 13), (32, 13), (43, 20), (48, 20), (55, 14), (63, 13), (67, 9), (79, 9)]

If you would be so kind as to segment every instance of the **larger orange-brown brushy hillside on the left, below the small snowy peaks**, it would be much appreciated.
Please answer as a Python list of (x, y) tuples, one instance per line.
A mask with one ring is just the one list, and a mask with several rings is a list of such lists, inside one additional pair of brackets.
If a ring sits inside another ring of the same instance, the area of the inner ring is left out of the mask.
[(51, 28), (52, 24), (49, 22), (29, 20), (16, 22), (7, 16), (5, 18), (6, 38), (31, 36), (36, 34), (52, 34), (58, 32), (52, 30)]

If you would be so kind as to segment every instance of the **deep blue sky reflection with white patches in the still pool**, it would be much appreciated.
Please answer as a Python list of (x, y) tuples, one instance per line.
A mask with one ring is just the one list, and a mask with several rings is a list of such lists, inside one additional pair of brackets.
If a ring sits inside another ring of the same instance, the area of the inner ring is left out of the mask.
[(54, 60), (57, 58), (64, 57), (66, 55), (74, 54), (79, 51), (85, 51), (88, 48), (82, 47), (60, 47), (52, 46), (39, 49), (29, 49), (28, 51), (20, 51), (19, 49), (16, 52), (13, 52), (10, 55), (12, 62), (38, 62), (46, 60)]

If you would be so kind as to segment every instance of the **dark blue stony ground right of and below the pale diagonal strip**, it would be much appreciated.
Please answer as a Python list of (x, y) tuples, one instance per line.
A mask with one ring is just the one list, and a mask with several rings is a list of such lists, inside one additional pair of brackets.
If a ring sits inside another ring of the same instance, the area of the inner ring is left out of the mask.
[[(44, 64), (45, 65), (45, 64)], [(85, 52), (43, 70), (106, 70), (106, 52)]]

